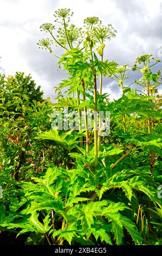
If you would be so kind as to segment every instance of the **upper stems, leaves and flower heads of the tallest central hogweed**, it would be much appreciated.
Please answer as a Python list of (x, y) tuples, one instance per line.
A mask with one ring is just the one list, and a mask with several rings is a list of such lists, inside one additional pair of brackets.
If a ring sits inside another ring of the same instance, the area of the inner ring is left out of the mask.
[[(100, 96), (102, 96), (102, 76), (112, 74), (116, 63), (103, 62), (103, 48), (104, 42), (115, 36), (116, 31), (112, 25), (101, 26), (98, 17), (88, 17), (85, 19), (86, 32), (81, 28), (76, 28), (75, 25), (69, 26), (70, 16), (73, 13), (69, 9), (59, 9), (55, 12), (55, 22), (61, 22), (62, 27), (57, 29), (57, 34), (54, 35), (55, 26), (50, 23), (44, 23), (40, 28), (48, 32), (53, 38), (42, 39), (38, 42), (41, 48), (46, 48), (50, 53), (51, 44), (54, 42), (56, 45), (61, 46), (66, 50), (59, 60), (59, 65), (63, 64), (64, 69), (69, 71), (68, 80), (64, 80), (61, 88), (70, 86), (68, 92), (75, 92), (77, 95), (77, 105), (80, 106), (81, 95), (82, 100), (86, 101), (86, 91), (93, 93), (93, 111), (94, 111), (94, 155), (95, 163), (98, 165), (98, 151), (100, 150), (100, 134), (98, 136), (98, 117), (96, 112), (100, 111), (97, 99), (97, 77), (100, 78)], [(84, 35), (85, 34), (85, 35)], [(83, 35), (86, 40), (83, 40)], [(95, 50), (95, 46), (98, 46)], [(101, 60), (98, 59), (95, 53), (98, 53)], [(55, 54), (55, 53), (53, 53)], [(86, 150), (89, 151), (89, 132), (87, 125), (87, 106), (85, 104), (85, 126), (86, 126)], [(78, 109), (81, 116), (81, 109)], [(81, 123), (81, 120), (80, 120)], [(99, 120), (99, 131), (101, 129), (101, 120)], [(81, 125), (80, 125), (81, 132)]]

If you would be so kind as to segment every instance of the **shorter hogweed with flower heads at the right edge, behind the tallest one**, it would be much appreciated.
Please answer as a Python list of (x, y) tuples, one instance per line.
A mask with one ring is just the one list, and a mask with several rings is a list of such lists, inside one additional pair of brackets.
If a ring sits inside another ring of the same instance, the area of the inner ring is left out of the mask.
[[(128, 66), (118, 67), (116, 74), (111, 76), (111, 78), (121, 86), (122, 97), (118, 101), (112, 102), (109, 105), (109, 109), (112, 113), (112, 119), (119, 119), (120, 121), (121, 113), (123, 113), (122, 127), (121, 123), (119, 123), (116, 129), (116, 133), (122, 138), (122, 144), (127, 146), (127, 143), (129, 145), (132, 143), (132, 145), (134, 144), (139, 147), (141, 143), (145, 143), (147, 148), (150, 147), (150, 154), (146, 152), (146, 155), (150, 155), (150, 175), (153, 176), (155, 163), (161, 156), (161, 138), (159, 133), (161, 130), (159, 121), (161, 118), (161, 109), (156, 107), (155, 95), (157, 87), (161, 84), (161, 76), (160, 70), (155, 74), (151, 70), (151, 67), (156, 65), (160, 60), (157, 59), (150, 66), (147, 66), (151, 62), (151, 59), (153, 62), (154, 58), (151, 54), (138, 57), (132, 68), (133, 70), (139, 69), (144, 74), (139, 81), (133, 81), (133, 83), (135, 82), (138, 86), (143, 87), (144, 90), (131, 90), (129, 86), (132, 83), (125, 87), (124, 81), (128, 78), (125, 76)], [(137, 63), (143, 63), (144, 66), (140, 68), (137, 66)], [(137, 92), (140, 92), (140, 94)], [(121, 128), (126, 134), (121, 134)]]

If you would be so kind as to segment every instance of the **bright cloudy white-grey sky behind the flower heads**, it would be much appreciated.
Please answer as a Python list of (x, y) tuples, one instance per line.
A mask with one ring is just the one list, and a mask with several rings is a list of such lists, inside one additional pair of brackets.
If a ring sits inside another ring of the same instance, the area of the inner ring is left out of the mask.
[[(57, 59), (38, 49), (36, 42), (47, 37), (39, 27), (44, 22), (53, 23), (54, 11), (59, 8), (72, 9), (72, 22), (79, 27), (89, 16), (99, 17), (104, 25), (113, 25), (118, 33), (107, 42), (105, 59), (130, 66), (145, 53), (161, 59), (162, 0), (0, 0), (0, 72), (30, 73), (42, 87), (44, 97), (54, 99), (53, 88), (65, 74), (58, 70)], [(58, 47), (54, 52), (61, 53)], [(158, 68), (161, 66), (162, 63)], [(131, 71), (128, 82), (137, 75)], [(111, 93), (111, 99), (121, 95), (120, 88), (108, 78), (104, 80), (103, 92)]]

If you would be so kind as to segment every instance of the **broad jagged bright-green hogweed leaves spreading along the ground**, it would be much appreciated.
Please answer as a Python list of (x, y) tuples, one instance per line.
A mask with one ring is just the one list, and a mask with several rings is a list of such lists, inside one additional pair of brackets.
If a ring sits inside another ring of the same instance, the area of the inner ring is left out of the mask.
[[(28, 234), (28, 244), (41, 244), (46, 240), (49, 245), (74, 242), (120, 245), (125, 243), (125, 228), (135, 245), (141, 244), (142, 236), (132, 221), (135, 220), (135, 212), (128, 202), (138, 205), (135, 191), (143, 191), (146, 198), (158, 203), (155, 190), (145, 186), (145, 182), (149, 182), (148, 177), (145, 174), (141, 177), (140, 172), (126, 173), (123, 170), (120, 176), (116, 173), (108, 178), (106, 170), (92, 173), (83, 167), (81, 160), (79, 162), (81, 164), (73, 170), (49, 168), (41, 178), (33, 178), (34, 182), (12, 181), (21, 187), (16, 192), (21, 200), (9, 198), (10, 212), (7, 205), (1, 204), (0, 227), (8, 230), (19, 228), (17, 235)], [(103, 183), (104, 179), (107, 181)], [(1, 180), (11, 182), (5, 178)], [(99, 184), (102, 184), (101, 189)], [(105, 191), (115, 188), (122, 188), (125, 192), (125, 203), (104, 198)], [(95, 195), (99, 200), (95, 200)]]

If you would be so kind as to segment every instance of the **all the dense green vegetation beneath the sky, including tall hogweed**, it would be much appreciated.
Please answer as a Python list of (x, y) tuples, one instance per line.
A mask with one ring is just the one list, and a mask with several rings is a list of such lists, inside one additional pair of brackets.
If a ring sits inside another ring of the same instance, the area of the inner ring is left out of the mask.
[[(0, 75), (0, 244), (161, 245), (161, 75), (152, 72), (160, 60), (138, 57), (131, 89), (129, 66), (103, 59), (112, 25), (88, 17), (77, 28), (72, 14), (60, 9), (56, 26), (41, 26), (51, 39), (38, 45), (68, 71), (55, 103), (30, 76)], [(103, 77), (121, 87), (119, 100), (102, 94)], [(107, 136), (100, 111), (110, 112)]]

